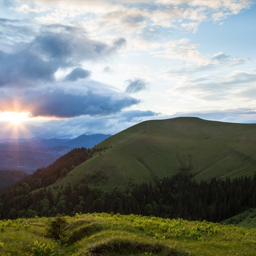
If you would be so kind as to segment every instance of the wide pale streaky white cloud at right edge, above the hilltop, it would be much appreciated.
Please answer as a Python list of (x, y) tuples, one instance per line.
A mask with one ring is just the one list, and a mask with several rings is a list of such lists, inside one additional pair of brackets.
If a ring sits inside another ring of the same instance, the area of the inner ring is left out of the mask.
[(254, 106), (256, 97), (256, 72), (239, 71), (230, 75), (201, 76), (190, 79), (175, 88), (178, 94), (194, 97), (198, 106), (207, 102), (208, 106)]

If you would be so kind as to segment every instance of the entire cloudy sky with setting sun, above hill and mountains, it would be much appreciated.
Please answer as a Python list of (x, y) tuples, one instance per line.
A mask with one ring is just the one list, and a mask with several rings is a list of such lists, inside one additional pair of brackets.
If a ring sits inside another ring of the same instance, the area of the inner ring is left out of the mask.
[(256, 123), (256, 1), (1, 0), (0, 138)]

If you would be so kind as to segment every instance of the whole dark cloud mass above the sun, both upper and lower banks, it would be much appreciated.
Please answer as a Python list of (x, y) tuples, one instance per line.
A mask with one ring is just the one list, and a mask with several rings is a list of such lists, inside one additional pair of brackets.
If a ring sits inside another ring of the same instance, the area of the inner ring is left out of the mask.
[[(20, 23), (0, 19), (0, 31), (8, 37), (6, 24), (12, 25), (13, 35), (15, 28), (29, 28)], [(88, 38), (83, 28), (58, 24), (32, 29), (29, 36), (28, 31), (26, 41), (12, 36), (8, 43), (0, 44), (1, 110), (70, 118), (110, 115), (140, 102), (97, 81), (82, 83), (91, 74), (81, 68), (82, 63), (115, 54), (126, 44), (125, 38), (106, 43)], [(56, 76), (66, 68), (72, 70), (67, 76)]]

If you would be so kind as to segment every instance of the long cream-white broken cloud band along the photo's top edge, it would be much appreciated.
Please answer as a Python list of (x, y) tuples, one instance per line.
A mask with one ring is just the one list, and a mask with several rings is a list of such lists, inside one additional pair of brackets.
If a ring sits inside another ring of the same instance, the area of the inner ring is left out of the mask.
[[(61, 1), (31, 0), (20, 6), (15, 4), (16, 12), (42, 14), (36, 20), (41, 24), (74, 22), (77, 17), (93, 14), (93, 31), (99, 35), (109, 31), (123, 31), (126, 34), (143, 35), (143, 29), (159, 28), (189, 29), (195, 32), (204, 21), (223, 20), (231, 14), (237, 14), (250, 6), (251, 1), (72, 1), (63, 4)], [(94, 3), (95, 2), (95, 3)], [(86, 19), (86, 21), (89, 19)], [(116, 26), (118, 22), (119, 26)], [(102, 28), (104, 24), (104, 30)], [(144, 31), (145, 31), (144, 30)], [(148, 36), (150, 37), (150, 36)]]

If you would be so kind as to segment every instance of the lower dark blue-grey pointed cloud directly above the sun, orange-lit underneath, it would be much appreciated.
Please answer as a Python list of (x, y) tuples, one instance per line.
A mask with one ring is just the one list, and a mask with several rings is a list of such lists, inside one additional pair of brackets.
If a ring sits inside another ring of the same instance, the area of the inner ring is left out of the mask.
[[(116, 92), (105, 84), (89, 81), (65, 89), (65, 84), (60, 88), (37, 88), (36, 90), (22, 90), (13, 93), (12, 97), (1, 95), (3, 104), (1, 111), (28, 111), (31, 116), (55, 116), (70, 118), (80, 115), (111, 115), (122, 109), (140, 103), (129, 95)], [(76, 88), (76, 90), (74, 90)], [(19, 109), (13, 109), (19, 108)]]

